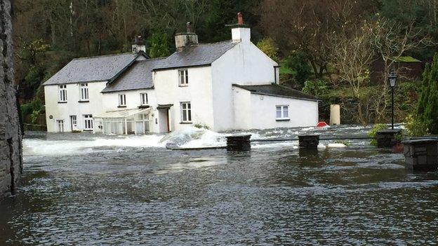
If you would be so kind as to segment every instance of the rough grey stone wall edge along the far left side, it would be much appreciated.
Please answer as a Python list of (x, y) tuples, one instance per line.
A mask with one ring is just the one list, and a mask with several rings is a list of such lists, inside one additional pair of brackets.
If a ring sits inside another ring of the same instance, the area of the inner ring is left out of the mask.
[(22, 174), (21, 130), (13, 78), (11, 0), (0, 0), (0, 198)]

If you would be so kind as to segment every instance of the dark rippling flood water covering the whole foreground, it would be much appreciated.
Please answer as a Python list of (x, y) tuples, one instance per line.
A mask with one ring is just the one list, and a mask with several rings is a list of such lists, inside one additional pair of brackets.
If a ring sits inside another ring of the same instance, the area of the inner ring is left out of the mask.
[[(248, 132), (266, 139), (317, 130)], [(223, 145), (224, 135), (207, 131), (183, 145)], [(162, 137), (27, 134), (18, 192), (0, 202), (0, 245), (438, 243), (438, 173), (405, 170), (402, 154), (366, 140), (318, 151), (253, 143), (227, 153), (171, 151)]]

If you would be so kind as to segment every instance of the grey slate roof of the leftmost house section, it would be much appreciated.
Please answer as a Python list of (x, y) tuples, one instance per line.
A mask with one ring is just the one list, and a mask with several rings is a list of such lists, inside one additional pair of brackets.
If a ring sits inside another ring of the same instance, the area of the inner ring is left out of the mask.
[(110, 81), (131, 64), (136, 57), (138, 54), (123, 53), (77, 58), (65, 65), (43, 85)]

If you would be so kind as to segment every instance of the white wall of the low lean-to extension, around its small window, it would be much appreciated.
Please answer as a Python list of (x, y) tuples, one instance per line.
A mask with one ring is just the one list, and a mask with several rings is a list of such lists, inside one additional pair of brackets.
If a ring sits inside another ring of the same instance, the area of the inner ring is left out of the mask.
[[(276, 121), (277, 105), (288, 105), (290, 121)], [(251, 93), (251, 121), (255, 129), (316, 126), (318, 102)]]

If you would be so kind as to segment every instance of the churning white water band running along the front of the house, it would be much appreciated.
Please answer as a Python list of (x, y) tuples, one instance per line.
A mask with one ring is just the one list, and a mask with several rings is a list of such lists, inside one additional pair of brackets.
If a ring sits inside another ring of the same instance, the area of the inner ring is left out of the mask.
[[(319, 134), (338, 137), (340, 134), (350, 136), (366, 135), (369, 128), (359, 126), (336, 126), (333, 128), (318, 129), (306, 128), (278, 128), (269, 130), (246, 130), (233, 132), (213, 132), (207, 129), (186, 128), (169, 134), (155, 135), (93, 135), (84, 133), (45, 133), (23, 140), (25, 155), (70, 155), (74, 153), (92, 153), (99, 151), (124, 151), (128, 148), (202, 148), (226, 145), (226, 137), (235, 133), (250, 134), (251, 139), (293, 139), (301, 134)], [(362, 141), (364, 142), (364, 141)], [(364, 143), (357, 142), (362, 145)], [(324, 145), (325, 144), (325, 145)], [(321, 147), (325, 148), (323, 143)], [(298, 142), (253, 142), (253, 149), (265, 148), (293, 148)], [(340, 145), (340, 144), (338, 144)], [(337, 147), (339, 147), (336, 145)]]

